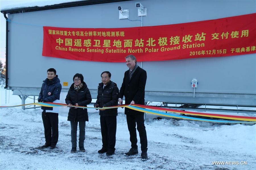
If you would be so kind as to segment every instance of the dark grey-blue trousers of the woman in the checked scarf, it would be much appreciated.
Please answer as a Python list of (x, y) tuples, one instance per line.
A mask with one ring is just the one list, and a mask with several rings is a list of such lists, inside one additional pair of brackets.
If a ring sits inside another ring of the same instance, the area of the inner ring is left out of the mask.
[[(77, 124), (78, 122), (70, 121), (72, 148), (77, 147)], [(79, 122), (79, 143), (78, 143), (79, 147), (84, 147), (84, 139), (85, 139), (85, 121)]]

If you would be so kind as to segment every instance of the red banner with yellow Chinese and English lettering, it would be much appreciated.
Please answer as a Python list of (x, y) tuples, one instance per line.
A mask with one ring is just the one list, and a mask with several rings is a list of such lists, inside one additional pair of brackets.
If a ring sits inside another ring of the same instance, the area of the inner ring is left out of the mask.
[(44, 27), (43, 56), (124, 62), (256, 53), (256, 13), (184, 24), (131, 28)]

